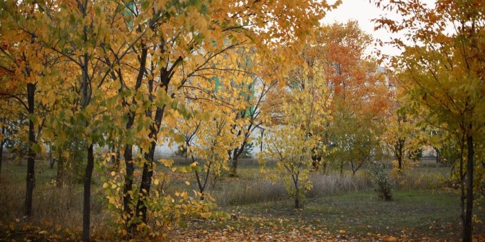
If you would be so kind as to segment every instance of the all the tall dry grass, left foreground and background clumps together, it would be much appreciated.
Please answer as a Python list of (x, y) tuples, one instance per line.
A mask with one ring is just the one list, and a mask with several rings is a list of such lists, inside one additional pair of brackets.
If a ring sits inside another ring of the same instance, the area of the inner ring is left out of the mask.
[[(55, 177), (55, 169), (48, 165), (37, 163), (36, 187), (34, 190), (34, 214), (29, 219), (23, 218), (23, 203), (25, 197), (25, 165), (4, 164), (0, 181), (0, 221), (11, 222), (19, 219), (21, 223), (49, 224), (52, 230), (56, 225), (79, 231), (82, 224), (82, 185), (74, 184), (65, 188), (56, 188), (51, 181)], [(220, 207), (258, 204), (265, 201), (282, 201), (288, 198), (284, 185), (272, 184), (259, 173), (257, 167), (242, 165), (239, 176), (229, 178), (223, 176), (209, 193), (216, 199)], [(443, 186), (449, 172), (446, 168), (415, 168), (403, 172), (397, 181), (399, 190), (419, 190)], [(99, 178), (99, 174), (95, 174)], [(187, 177), (180, 178), (180, 183)], [(372, 185), (365, 170), (359, 170), (355, 176), (338, 172), (310, 174), (313, 188), (307, 192), (311, 198), (322, 198), (339, 194), (354, 194), (355, 192), (371, 192)], [(93, 234), (112, 232), (112, 219), (106, 211), (106, 199), (99, 181), (93, 183), (91, 224)], [(46, 223), (48, 221), (48, 223)]]

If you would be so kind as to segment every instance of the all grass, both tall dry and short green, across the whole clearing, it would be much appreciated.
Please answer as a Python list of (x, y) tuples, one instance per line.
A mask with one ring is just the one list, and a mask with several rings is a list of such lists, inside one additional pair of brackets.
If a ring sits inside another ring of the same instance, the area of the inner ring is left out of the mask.
[[(162, 168), (160, 168), (162, 169)], [(348, 172), (319, 174), (310, 179), (314, 185), (307, 193), (303, 210), (293, 210), (283, 185), (272, 184), (260, 175), (258, 167), (242, 166), (238, 177), (222, 176), (208, 192), (216, 199), (219, 210), (233, 214), (225, 221), (195, 220), (189, 229), (291, 231), (322, 230), (339, 234), (348, 232), (355, 238), (389, 234), (406, 238), (459, 239), (459, 197), (456, 190), (446, 188), (448, 168), (415, 168), (403, 174), (394, 192), (394, 201), (386, 202), (373, 192), (365, 170), (355, 177)], [(55, 168), (44, 162), (36, 164), (34, 215), (23, 216), (26, 165), (4, 163), (0, 181), (0, 220), (20, 219), (22, 223), (61, 225), (80, 230), (82, 221), (82, 184), (55, 188)], [(93, 180), (93, 233), (112, 230), (111, 217), (106, 212), (100, 176)], [(191, 181), (187, 187), (184, 181)], [(180, 174), (171, 190), (196, 190), (193, 174)], [(475, 205), (475, 208), (478, 208)], [(477, 219), (485, 221), (484, 210), (475, 209)], [(229, 226), (229, 227), (228, 227)], [(53, 226), (55, 227), (55, 226)], [(187, 228), (186, 228), (187, 229)], [(475, 223), (475, 234), (485, 234), (483, 223)], [(1, 232), (0, 232), (1, 235)], [(1, 239), (0, 239), (1, 240)]]

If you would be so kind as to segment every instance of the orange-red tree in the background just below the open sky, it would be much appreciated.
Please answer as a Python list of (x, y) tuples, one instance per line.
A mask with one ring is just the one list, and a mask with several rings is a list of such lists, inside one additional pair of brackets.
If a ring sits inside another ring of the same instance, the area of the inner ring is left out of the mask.
[(386, 72), (377, 61), (365, 57), (372, 38), (356, 21), (334, 23), (319, 29), (314, 43), (305, 48), (307, 62), (319, 60), (325, 70), (326, 86), (332, 97), (332, 121), (319, 134), (334, 150), (330, 160), (350, 163), (352, 173), (381, 152), (380, 135), (389, 108), (390, 91)]

